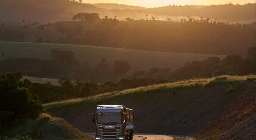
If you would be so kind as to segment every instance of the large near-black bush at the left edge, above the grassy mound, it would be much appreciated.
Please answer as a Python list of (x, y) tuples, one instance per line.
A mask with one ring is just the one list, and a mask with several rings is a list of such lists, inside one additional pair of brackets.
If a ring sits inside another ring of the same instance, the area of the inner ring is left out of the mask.
[(22, 85), (21, 74), (0, 74), (0, 125), (8, 126), (19, 119), (34, 118), (43, 111), (38, 97)]

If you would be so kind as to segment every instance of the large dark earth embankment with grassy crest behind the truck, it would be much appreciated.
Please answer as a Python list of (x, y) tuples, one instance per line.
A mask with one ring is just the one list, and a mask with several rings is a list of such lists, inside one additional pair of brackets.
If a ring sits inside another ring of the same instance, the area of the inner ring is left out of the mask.
[(255, 75), (192, 79), (44, 106), (84, 132), (94, 131), (91, 114), (96, 105), (125, 104), (134, 109), (136, 133), (249, 140), (255, 139), (255, 79)]

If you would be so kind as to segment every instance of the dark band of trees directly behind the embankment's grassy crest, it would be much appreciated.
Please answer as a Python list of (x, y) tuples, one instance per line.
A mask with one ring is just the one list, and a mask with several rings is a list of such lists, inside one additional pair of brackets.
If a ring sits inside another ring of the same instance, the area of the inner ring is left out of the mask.
[[(54, 57), (64, 58), (62, 54), (56, 53), (59, 49), (52, 51)], [(70, 52), (65, 52), (70, 53)], [(58, 56), (60, 55), (60, 56)], [(204, 61), (187, 62), (185, 66), (173, 71), (170, 68), (150, 68), (146, 70), (130, 71), (131, 67), (127, 61), (115, 61), (112, 72), (115, 72), (116, 78), (119, 80), (112, 81), (112, 74), (109, 66), (102, 58), (101, 63), (93, 69), (97, 74), (97, 78), (102, 79), (99, 82), (92, 82), (79, 76), (91, 77), (88, 69), (81, 69), (81, 73), (76, 80), (71, 81), (69, 77), (62, 76), (59, 78), (60, 86), (53, 86), (50, 82), (46, 84), (31, 83), (24, 80), (25, 88), (29, 89), (32, 94), (40, 97), (44, 103), (59, 100), (72, 99), (77, 97), (94, 96), (100, 93), (120, 91), (140, 86), (148, 86), (152, 84), (161, 84), (167, 82), (175, 82), (191, 78), (209, 78), (221, 75), (248, 75), (256, 74), (256, 49), (252, 47), (248, 50), (246, 56), (240, 54), (231, 54), (223, 60), (218, 57), (209, 57)], [(62, 60), (61, 63), (71, 64), (70, 60)], [(75, 59), (72, 58), (72, 64)], [(42, 63), (41, 63), (42, 64)]]

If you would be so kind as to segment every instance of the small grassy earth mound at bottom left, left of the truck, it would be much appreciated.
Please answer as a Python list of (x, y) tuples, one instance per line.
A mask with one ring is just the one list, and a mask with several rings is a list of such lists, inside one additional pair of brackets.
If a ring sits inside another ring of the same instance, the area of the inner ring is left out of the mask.
[(1, 129), (0, 135), (32, 135), (33, 140), (93, 140), (64, 119), (44, 113), (38, 119), (24, 120), (4, 130)]

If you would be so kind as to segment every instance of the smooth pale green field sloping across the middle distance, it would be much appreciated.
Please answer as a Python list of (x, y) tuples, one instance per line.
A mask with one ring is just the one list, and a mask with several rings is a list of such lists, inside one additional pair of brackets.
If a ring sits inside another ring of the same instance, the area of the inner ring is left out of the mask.
[(202, 61), (212, 56), (221, 59), (225, 57), (225, 55), (214, 54), (170, 53), (75, 44), (25, 42), (0, 42), (0, 55), (4, 54), (2, 59), (7, 59), (8, 56), (9, 58), (51, 59), (50, 51), (56, 48), (74, 52), (76, 59), (79, 59), (81, 63), (86, 61), (90, 67), (99, 63), (101, 58), (106, 58), (106, 63), (113, 63), (116, 59), (125, 59), (131, 64), (132, 70), (152, 67), (177, 69), (184, 66), (187, 61)]

